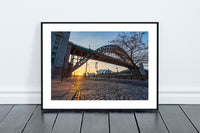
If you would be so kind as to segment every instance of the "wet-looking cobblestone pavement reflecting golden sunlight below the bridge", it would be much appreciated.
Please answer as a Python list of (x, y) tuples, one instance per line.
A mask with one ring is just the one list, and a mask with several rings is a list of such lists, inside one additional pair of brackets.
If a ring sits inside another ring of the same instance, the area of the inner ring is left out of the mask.
[(147, 100), (148, 88), (109, 79), (74, 77), (62, 83), (52, 80), (51, 94), (52, 100)]

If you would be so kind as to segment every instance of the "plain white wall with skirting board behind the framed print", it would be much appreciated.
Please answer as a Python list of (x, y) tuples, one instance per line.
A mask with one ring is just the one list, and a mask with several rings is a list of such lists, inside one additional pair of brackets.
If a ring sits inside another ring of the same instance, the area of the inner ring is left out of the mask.
[(0, 2), (0, 103), (40, 103), (41, 21), (159, 21), (160, 103), (200, 103), (199, 0)]

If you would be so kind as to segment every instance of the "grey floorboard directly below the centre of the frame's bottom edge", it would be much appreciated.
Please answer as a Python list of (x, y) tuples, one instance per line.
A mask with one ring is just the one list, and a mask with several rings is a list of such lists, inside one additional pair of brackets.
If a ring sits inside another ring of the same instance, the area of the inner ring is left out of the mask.
[(81, 133), (109, 133), (107, 112), (84, 112)]

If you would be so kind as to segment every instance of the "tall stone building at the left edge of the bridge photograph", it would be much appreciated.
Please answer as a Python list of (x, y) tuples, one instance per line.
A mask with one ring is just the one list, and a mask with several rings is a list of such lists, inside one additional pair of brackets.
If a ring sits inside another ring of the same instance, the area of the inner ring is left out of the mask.
[[(64, 70), (68, 66), (71, 48), (68, 48), (70, 32), (51, 33), (51, 78), (63, 78)], [(44, 68), (45, 69), (45, 68)]]

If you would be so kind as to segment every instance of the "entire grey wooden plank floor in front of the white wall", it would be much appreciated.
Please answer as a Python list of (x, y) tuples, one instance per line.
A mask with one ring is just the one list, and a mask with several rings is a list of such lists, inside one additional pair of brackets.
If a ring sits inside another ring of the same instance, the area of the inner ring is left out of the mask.
[(0, 133), (197, 133), (200, 105), (160, 105), (159, 111), (42, 113), (40, 105), (0, 105)]

